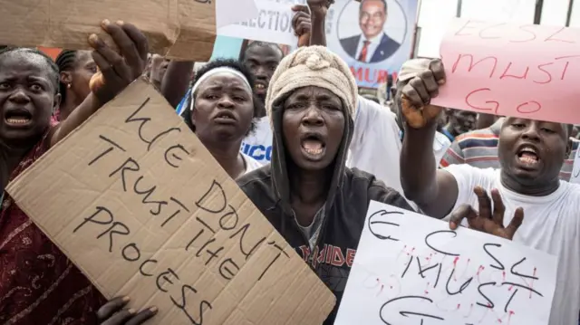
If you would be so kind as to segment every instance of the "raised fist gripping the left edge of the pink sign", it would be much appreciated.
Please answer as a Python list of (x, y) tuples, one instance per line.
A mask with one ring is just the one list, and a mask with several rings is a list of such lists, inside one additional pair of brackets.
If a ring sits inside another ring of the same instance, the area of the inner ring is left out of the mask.
[[(412, 62), (420, 65), (426, 61), (419, 59)], [(414, 70), (412, 64), (405, 63), (410, 70)], [(440, 106), (430, 105), (430, 100), (439, 94), (440, 84), (445, 83), (445, 71), (443, 63), (436, 59), (430, 61), (426, 69), (410, 73), (414, 76), (409, 76), (407, 83), (402, 87), (401, 112), (411, 128), (421, 129), (434, 123), (442, 110)], [(404, 77), (401, 72), (401, 80), (404, 80)]]

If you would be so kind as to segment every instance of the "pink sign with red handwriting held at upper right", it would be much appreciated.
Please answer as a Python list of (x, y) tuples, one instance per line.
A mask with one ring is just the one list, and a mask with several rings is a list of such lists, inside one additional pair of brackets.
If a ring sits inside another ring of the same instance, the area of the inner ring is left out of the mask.
[(580, 29), (456, 19), (441, 43), (433, 104), (580, 123)]

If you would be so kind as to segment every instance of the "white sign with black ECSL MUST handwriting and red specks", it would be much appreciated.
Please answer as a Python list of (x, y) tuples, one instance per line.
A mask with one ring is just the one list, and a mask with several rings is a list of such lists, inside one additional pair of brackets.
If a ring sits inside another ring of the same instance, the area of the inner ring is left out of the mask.
[(371, 202), (334, 325), (547, 325), (556, 256)]

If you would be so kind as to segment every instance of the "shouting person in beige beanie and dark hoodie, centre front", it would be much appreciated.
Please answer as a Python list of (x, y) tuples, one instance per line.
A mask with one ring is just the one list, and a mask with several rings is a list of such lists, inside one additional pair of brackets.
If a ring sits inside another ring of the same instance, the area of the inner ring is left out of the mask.
[(403, 196), (372, 175), (345, 167), (356, 96), (350, 69), (325, 47), (304, 47), (285, 57), (266, 95), (272, 162), (238, 179), (335, 294), (337, 303), (324, 324), (336, 317), (369, 201), (411, 210)]

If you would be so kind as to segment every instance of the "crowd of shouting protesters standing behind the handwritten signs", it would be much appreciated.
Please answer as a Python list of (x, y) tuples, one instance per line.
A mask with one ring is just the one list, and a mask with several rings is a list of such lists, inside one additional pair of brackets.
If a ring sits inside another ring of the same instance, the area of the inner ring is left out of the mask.
[[(285, 56), (254, 42), (240, 60), (170, 62), (148, 53), (131, 24), (103, 22), (120, 52), (53, 60), (28, 48), (0, 52), (0, 177), (7, 184), (145, 74), (254, 205), (302, 254), (356, 249), (370, 200), (466, 225), (557, 256), (550, 325), (578, 323), (580, 187), (569, 182), (574, 125), (429, 105), (445, 82), (439, 60), (405, 62), (386, 100), (359, 95), (348, 66), (325, 48), (332, 2), (295, 6), (300, 48)], [(308, 12), (312, 14), (308, 14)], [(101, 84), (90, 83), (102, 73)], [(384, 92), (384, 91), (383, 91)], [(402, 105), (434, 118), (411, 125)], [(247, 148), (271, 148), (253, 157)], [(50, 195), (50, 194), (47, 194)], [(65, 207), (63, 207), (65, 208)], [(323, 281), (336, 269), (303, 256)], [(344, 285), (330, 286), (336, 307)], [(130, 324), (156, 307), (106, 301), (6, 193), (0, 214), (0, 324)]]

